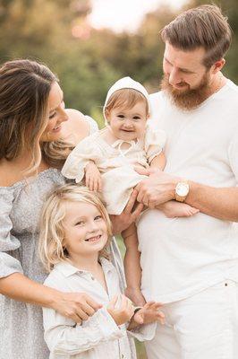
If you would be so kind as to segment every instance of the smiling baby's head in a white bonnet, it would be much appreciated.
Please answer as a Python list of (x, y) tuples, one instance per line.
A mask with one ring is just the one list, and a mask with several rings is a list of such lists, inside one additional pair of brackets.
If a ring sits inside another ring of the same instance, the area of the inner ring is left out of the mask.
[(149, 118), (148, 92), (131, 77), (123, 77), (107, 92), (104, 116), (115, 137), (132, 141), (143, 136)]

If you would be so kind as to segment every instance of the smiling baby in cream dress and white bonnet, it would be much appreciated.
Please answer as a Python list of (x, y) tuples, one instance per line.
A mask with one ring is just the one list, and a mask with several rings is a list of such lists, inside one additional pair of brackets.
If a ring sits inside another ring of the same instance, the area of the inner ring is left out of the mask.
[[(120, 215), (133, 188), (145, 178), (136, 167), (163, 171), (166, 134), (148, 126), (149, 94), (131, 77), (118, 80), (107, 92), (104, 105), (106, 127), (78, 144), (62, 170), (68, 179), (85, 179), (90, 190), (102, 191), (110, 215)], [(172, 203), (172, 216), (194, 215), (191, 206)], [(140, 293), (140, 253), (135, 225), (123, 232), (127, 294), (138, 305)]]

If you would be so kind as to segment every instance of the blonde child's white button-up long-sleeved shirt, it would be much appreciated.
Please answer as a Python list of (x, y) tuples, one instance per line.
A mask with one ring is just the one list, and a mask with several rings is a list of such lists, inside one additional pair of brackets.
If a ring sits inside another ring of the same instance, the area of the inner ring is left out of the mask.
[[(100, 258), (106, 278), (107, 291), (87, 271), (62, 262), (55, 266), (47, 277), (45, 285), (63, 292), (88, 293), (95, 301), (103, 304), (89, 320), (75, 325), (73, 320), (64, 318), (56, 311), (43, 308), (45, 340), (50, 350), (50, 359), (132, 359), (133, 354), (127, 337), (125, 325), (118, 327), (106, 307), (115, 295), (120, 293), (119, 280), (115, 267), (106, 259)], [(154, 337), (156, 323), (140, 327), (130, 332), (139, 340)]]

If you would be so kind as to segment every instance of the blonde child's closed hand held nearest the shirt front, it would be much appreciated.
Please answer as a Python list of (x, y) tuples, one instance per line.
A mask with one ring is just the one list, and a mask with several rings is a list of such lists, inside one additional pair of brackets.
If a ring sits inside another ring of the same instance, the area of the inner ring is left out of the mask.
[(131, 320), (132, 315), (134, 314), (132, 302), (123, 294), (115, 296), (115, 298), (109, 302), (106, 309), (118, 326)]

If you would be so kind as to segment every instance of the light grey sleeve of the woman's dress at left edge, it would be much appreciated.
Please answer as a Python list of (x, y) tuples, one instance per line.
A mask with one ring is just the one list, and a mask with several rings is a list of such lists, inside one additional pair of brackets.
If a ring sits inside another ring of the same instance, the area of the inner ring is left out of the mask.
[(21, 263), (8, 252), (17, 250), (21, 243), (13, 236), (10, 213), (13, 208), (13, 188), (0, 188), (0, 278), (15, 272), (23, 273)]

